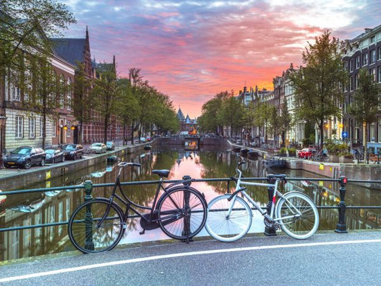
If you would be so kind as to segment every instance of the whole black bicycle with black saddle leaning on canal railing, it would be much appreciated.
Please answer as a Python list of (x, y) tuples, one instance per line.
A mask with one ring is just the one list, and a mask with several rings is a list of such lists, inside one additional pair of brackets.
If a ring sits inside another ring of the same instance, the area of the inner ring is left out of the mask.
[[(189, 241), (202, 230), (207, 204), (204, 195), (190, 186), (193, 179), (188, 177), (164, 187), (163, 177), (168, 177), (170, 171), (152, 170), (160, 180), (151, 208), (135, 204), (123, 191), (120, 177), (126, 166), (140, 167), (141, 164), (118, 163), (119, 170), (111, 196), (84, 202), (71, 215), (68, 233), (76, 249), (83, 253), (113, 249), (125, 233), (130, 211), (141, 217), (141, 234), (160, 227), (170, 238)], [(121, 195), (116, 190), (120, 190)], [(159, 197), (160, 190), (163, 193)], [(121, 205), (125, 206), (124, 209)], [(141, 213), (136, 208), (148, 213)]]

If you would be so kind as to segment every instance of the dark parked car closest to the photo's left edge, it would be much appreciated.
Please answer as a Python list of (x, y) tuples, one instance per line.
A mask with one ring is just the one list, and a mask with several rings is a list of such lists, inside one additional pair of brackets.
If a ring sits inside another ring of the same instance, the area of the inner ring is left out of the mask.
[(21, 146), (16, 148), (10, 154), (3, 157), (3, 164), (6, 168), (12, 166), (29, 169), (33, 165), (45, 165), (45, 151), (41, 148), (30, 146)]

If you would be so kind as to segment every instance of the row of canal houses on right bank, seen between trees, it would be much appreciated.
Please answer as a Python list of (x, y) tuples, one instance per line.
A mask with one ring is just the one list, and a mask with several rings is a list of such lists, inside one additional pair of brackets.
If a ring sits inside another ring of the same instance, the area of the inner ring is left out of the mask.
[[(325, 123), (324, 138), (333, 140), (344, 140), (349, 145), (357, 147), (363, 145), (363, 129), (362, 123), (356, 122), (353, 117), (348, 114), (348, 107), (353, 102), (353, 94), (358, 88), (358, 75), (360, 69), (367, 69), (374, 76), (375, 82), (381, 84), (381, 25), (375, 28), (366, 28), (364, 33), (358, 35), (354, 39), (346, 39), (342, 42), (340, 49), (342, 51), (342, 62), (345, 71), (348, 72), (349, 81), (344, 87), (344, 104), (341, 104), (342, 118), (330, 118)], [(269, 102), (275, 105), (278, 112), (281, 113), (283, 102), (287, 103), (287, 110), (293, 116), (296, 110), (295, 96), (290, 84), (290, 73), (294, 71), (294, 66), (283, 71), (281, 76), (273, 78), (273, 91), (266, 89), (258, 90), (244, 87), (240, 91), (239, 98), (245, 105), (249, 105), (251, 101)], [(285, 101), (284, 101), (285, 100)], [(249, 135), (248, 135), (249, 134)], [(315, 138), (318, 140), (319, 129), (315, 129)], [(251, 127), (250, 130), (242, 129), (242, 137), (250, 136), (251, 140), (260, 143), (264, 141), (264, 131), (259, 127)], [(344, 136), (343, 136), (344, 135)], [(276, 134), (267, 134), (267, 142), (279, 145), (281, 138)], [(303, 145), (305, 138), (305, 122), (299, 120), (294, 122), (285, 134), (285, 145)], [(368, 134), (366, 134), (368, 142), (381, 142), (381, 113), (375, 122), (368, 126)], [(317, 142), (315, 142), (317, 143)]]

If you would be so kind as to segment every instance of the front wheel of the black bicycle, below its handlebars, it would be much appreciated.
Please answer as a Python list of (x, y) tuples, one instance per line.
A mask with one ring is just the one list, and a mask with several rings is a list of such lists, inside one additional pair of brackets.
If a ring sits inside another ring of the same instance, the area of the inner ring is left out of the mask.
[[(108, 199), (92, 199), (78, 206), (73, 212), (69, 220), (68, 233), (76, 249), (83, 253), (98, 253), (113, 249), (121, 240), (125, 223), (121, 209), (115, 204), (112, 204), (106, 220), (100, 227), (97, 226), (108, 205)], [(114, 220), (108, 217), (113, 217)]]

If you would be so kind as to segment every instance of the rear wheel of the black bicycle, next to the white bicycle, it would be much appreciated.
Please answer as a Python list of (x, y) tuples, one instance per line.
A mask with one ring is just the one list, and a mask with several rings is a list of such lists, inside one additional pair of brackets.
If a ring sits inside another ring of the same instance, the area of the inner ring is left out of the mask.
[[(186, 204), (187, 195), (189, 204)], [(202, 194), (193, 188), (169, 190), (157, 206), (159, 226), (170, 238), (193, 238), (205, 225), (206, 205)]]

